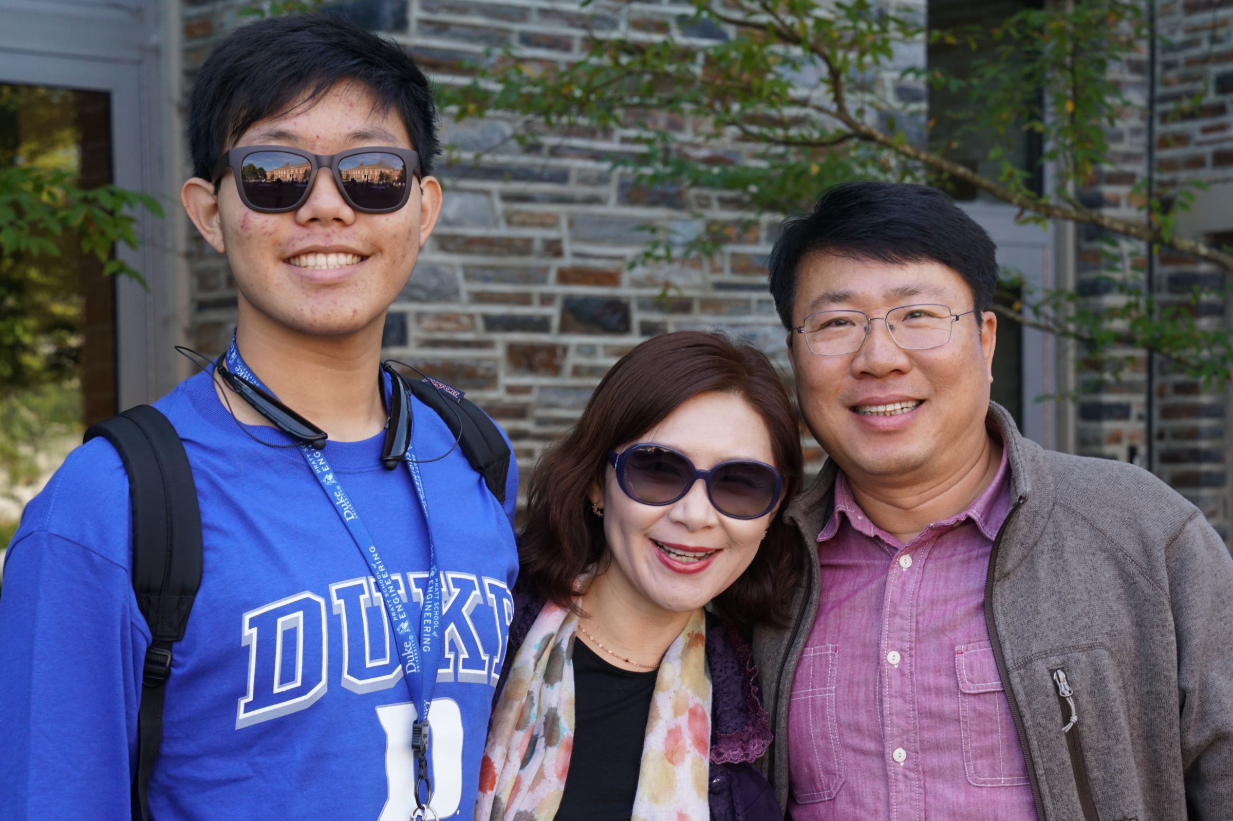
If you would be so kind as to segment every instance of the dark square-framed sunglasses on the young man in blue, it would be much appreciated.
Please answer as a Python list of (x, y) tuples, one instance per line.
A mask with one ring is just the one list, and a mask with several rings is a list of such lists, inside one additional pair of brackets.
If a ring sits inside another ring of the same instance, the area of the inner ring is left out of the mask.
[(346, 203), (364, 213), (388, 213), (407, 205), (419, 154), (409, 148), (353, 148), (309, 154), (286, 145), (240, 145), (215, 163), (215, 184), (231, 169), (240, 201), (261, 213), (295, 211), (308, 198), (317, 171), (327, 168)]

